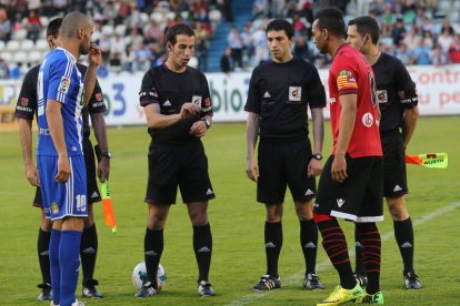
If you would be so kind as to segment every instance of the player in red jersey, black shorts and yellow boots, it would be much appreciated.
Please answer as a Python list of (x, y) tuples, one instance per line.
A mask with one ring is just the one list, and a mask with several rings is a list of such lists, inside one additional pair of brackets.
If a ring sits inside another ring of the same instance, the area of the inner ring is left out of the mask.
[[(383, 220), (383, 161), (373, 72), (359, 51), (344, 44), (341, 11), (317, 12), (312, 34), (317, 49), (333, 59), (329, 70), (333, 149), (321, 173), (313, 212), (322, 245), (340, 276), (337, 289), (317, 305), (383, 303), (381, 238), (376, 225)], [(366, 293), (353, 277), (337, 217), (353, 221), (362, 238), (369, 278)]]

